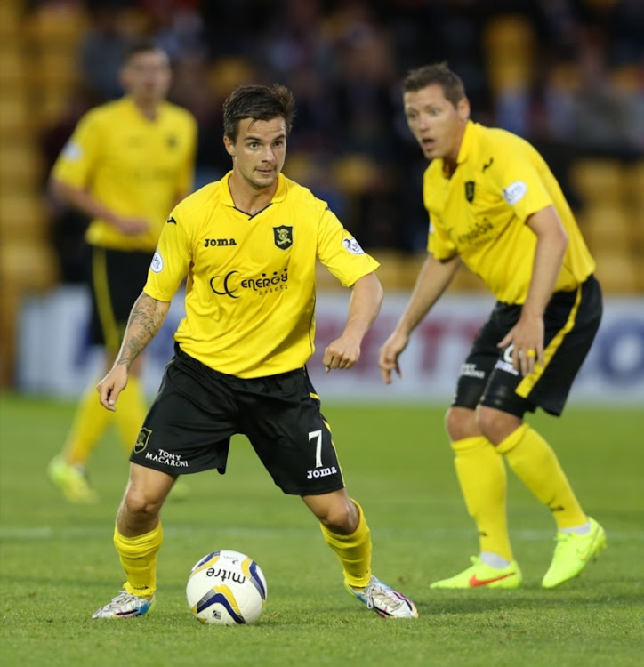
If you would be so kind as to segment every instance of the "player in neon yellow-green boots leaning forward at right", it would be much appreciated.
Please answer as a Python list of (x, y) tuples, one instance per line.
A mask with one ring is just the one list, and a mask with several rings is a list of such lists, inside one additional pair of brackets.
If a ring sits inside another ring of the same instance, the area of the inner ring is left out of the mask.
[(518, 588), (506, 519), (503, 459), (552, 512), (557, 546), (542, 585), (579, 575), (606, 545), (556, 455), (523, 421), (537, 407), (561, 414), (600, 325), (594, 261), (559, 184), (523, 139), (470, 120), (463, 82), (445, 63), (403, 82), (407, 124), (431, 164), (423, 180), (428, 257), (407, 308), (380, 351), (384, 382), (400, 375), (409, 336), (461, 262), (497, 299), (461, 367), (447, 433), (478, 556), (432, 588)]

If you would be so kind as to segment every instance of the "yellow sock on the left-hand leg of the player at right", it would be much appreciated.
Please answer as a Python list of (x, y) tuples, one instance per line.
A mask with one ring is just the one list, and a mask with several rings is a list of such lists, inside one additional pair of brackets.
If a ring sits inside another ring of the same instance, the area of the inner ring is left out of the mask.
[(513, 560), (507, 517), (507, 475), (503, 459), (484, 436), (452, 442), (456, 477), (467, 510), (479, 530), (481, 552)]

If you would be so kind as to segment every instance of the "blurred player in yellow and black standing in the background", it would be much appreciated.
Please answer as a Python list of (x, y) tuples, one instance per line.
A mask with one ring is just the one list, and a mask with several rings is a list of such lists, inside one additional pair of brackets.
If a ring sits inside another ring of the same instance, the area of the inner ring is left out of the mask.
[[(93, 342), (112, 366), (133, 302), (141, 293), (168, 210), (192, 189), (197, 124), (189, 111), (167, 101), (168, 57), (154, 44), (135, 44), (125, 58), (120, 100), (81, 118), (52, 170), (52, 189), (90, 218)], [(141, 358), (115, 415), (127, 453), (146, 414), (139, 382)], [(85, 478), (93, 447), (112, 420), (85, 393), (62, 453), (48, 473), (72, 502), (94, 502)]]

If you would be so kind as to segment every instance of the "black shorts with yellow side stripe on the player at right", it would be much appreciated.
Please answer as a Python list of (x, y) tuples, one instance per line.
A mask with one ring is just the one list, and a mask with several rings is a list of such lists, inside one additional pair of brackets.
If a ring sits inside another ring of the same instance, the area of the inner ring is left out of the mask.
[(543, 314), (545, 363), (523, 377), (509, 345), (497, 344), (519, 321), (521, 306), (497, 301), (461, 366), (453, 406), (495, 407), (519, 417), (537, 407), (561, 414), (568, 392), (600, 326), (600, 284), (589, 277), (573, 292), (556, 292)]

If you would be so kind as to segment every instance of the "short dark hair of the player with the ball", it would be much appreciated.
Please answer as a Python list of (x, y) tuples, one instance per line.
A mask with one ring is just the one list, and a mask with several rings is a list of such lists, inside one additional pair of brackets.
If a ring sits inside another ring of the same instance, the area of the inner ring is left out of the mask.
[(235, 143), (240, 120), (272, 120), (278, 116), (284, 118), (288, 134), (294, 114), (295, 98), (286, 86), (242, 85), (223, 103), (223, 135)]

